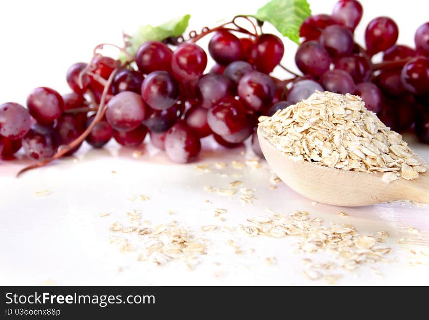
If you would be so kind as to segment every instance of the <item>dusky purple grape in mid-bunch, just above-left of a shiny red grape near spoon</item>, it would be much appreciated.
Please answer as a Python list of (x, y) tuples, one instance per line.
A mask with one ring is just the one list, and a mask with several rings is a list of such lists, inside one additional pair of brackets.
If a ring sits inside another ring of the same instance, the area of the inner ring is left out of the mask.
[(205, 109), (210, 109), (217, 101), (233, 93), (233, 82), (224, 75), (209, 73), (200, 77), (196, 84), (196, 96)]

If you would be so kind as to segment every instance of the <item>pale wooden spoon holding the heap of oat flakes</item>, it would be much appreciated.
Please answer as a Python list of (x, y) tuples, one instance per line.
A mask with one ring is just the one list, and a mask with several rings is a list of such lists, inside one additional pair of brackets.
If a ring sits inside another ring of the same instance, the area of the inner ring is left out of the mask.
[(421, 173), (414, 180), (382, 180), (382, 172), (345, 171), (323, 167), (308, 161), (295, 162), (257, 135), (265, 159), (275, 174), (296, 192), (320, 203), (358, 207), (376, 203), (411, 200), (429, 203), (429, 175)]

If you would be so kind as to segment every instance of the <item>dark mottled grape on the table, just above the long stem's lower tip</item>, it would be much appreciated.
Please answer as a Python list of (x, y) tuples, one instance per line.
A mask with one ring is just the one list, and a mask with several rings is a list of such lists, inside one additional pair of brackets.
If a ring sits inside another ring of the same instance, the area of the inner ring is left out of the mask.
[(52, 157), (58, 146), (58, 136), (54, 130), (39, 124), (33, 125), (22, 138), (25, 154), (34, 159)]

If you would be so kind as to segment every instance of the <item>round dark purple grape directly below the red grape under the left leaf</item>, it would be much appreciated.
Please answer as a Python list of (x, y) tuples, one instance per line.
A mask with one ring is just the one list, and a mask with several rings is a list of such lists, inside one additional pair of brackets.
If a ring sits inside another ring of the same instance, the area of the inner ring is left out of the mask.
[(179, 87), (176, 79), (167, 71), (154, 71), (144, 79), (141, 96), (151, 108), (165, 110), (176, 103)]

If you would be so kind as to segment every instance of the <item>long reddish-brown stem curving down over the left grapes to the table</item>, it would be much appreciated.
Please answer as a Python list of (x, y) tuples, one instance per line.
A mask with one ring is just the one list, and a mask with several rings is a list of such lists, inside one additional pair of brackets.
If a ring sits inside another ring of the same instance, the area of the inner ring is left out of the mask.
[(46, 159), (46, 160), (43, 160), (43, 161), (40, 161), (38, 163), (35, 163), (35, 164), (31, 165), (31, 166), (25, 167), (24, 169), (21, 169), (17, 173), (17, 177), (19, 177), (25, 171), (43, 167), (43, 166), (47, 165), (48, 163), (61, 158), (64, 154), (66, 154), (68, 151), (72, 150), (73, 148), (77, 147), (80, 143), (83, 142), (83, 140), (85, 140), (85, 138), (88, 136), (88, 134), (91, 133), (91, 130), (94, 128), (94, 126), (98, 122), (100, 122), (100, 120), (103, 118), (104, 113), (106, 113), (106, 110), (107, 110), (107, 106), (105, 105), (105, 103), (106, 103), (106, 96), (107, 96), (107, 94), (109, 92), (110, 86), (112, 85), (113, 78), (117, 74), (118, 70), (119, 69), (116, 68), (110, 74), (109, 79), (107, 80), (106, 86), (103, 89), (103, 93), (101, 95), (101, 101), (100, 101), (100, 104), (98, 106), (98, 110), (97, 110), (96, 116), (94, 118), (94, 121), (88, 126), (88, 128), (86, 128), (86, 130), (81, 135), (79, 135), (78, 138), (76, 138), (75, 140), (73, 140), (68, 145), (59, 146), (57, 153), (53, 157), (51, 157), (49, 159)]

